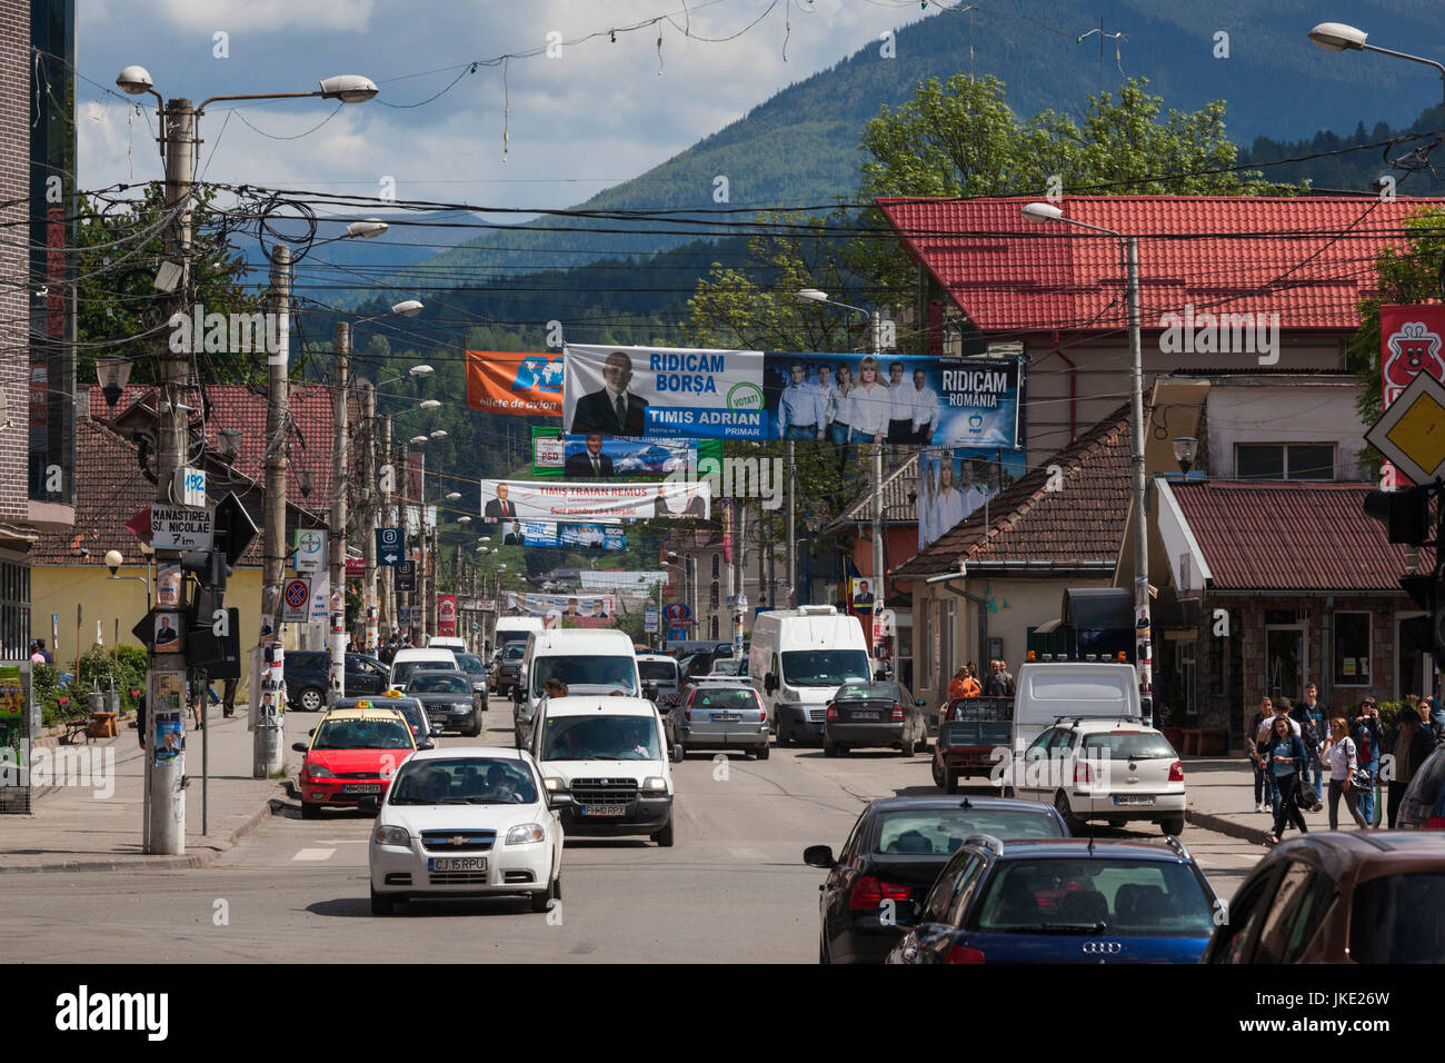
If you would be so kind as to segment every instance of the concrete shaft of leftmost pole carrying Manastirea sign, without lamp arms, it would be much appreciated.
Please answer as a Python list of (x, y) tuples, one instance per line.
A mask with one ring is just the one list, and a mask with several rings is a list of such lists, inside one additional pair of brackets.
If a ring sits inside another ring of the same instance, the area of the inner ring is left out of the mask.
[[(175, 314), (189, 318), (191, 309), (191, 161), (195, 149), (195, 111), (189, 100), (171, 100), (165, 113), (166, 150), (166, 210), (176, 210), (166, 226), (166, 260), (182, 268), (181, 283), (166, 296), (169, 320)], [(179, 208), (179, 210), (178, 210)], [(191, 377), (189, 354), (171, 350), (169, 337), (160, 346), (160, 383), (163, 402), (159, 409), (156, 441), (156, 502), (171, 505), (171, 482), (175, 470), (185, 463), (188, 451), (189, 414), (181, 406), (185, 388)], [(179, 564), (181, 554), (173, 550), (158, 550), (156, 564)], [(171, 759), (162, 745), (168, 732), (178, 738), (185, 733), (186, 688), (185, 657), (179, 652), (150, 655), (150, 674), (146, 681), (146, 772), (150, 787), (150, 820), (146, 852), (152, 855), (179, 856), (185, 853), (185, 748)]]

